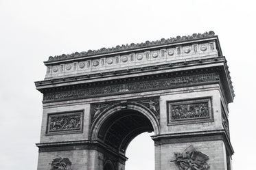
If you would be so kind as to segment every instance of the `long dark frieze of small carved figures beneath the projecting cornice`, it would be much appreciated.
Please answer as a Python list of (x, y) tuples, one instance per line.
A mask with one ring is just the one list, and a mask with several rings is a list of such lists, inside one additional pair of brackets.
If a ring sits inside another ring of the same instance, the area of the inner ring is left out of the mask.
[(89, 87), (86, 89), (73, 89), (69, 91), (45, 93), (43, 96), (43, 101), (51, 102), (57, 100), (72, 100), (78, 98), (96, 97), (100, 95), (132, 93), (152, 89), (157, 90), (178, 87), (178, 85), (194, 85), (195, 83), (209, 83), (216, 81), (220, 81), (220, 76), (218, 73), (170, 77), (167, 79), (139, 81), (126, 84), (122, 83), (117, 85), (106, 85), (102, 87)]

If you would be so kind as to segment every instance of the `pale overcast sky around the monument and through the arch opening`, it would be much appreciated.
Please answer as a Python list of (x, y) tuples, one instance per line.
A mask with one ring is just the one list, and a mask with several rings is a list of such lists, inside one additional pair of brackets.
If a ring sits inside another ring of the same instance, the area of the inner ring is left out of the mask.
[[(50, 55), (213, 30), (236, 95), (229, 104), (233, 170), (251, 170), (256, 152), (255, 6), (248, 0), (0, 0), (0, 169), (37, 167), (34, 143), (40, 136), (42, 94), (34, 81), (44, 79), (43, 61)], [(148, 136), (128, 147), (126, 170), (154, 169)]]

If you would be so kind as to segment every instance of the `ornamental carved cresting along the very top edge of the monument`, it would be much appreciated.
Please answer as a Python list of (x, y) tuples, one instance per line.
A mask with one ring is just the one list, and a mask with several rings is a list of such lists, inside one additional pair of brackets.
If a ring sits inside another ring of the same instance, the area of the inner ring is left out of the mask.
[(118, 51), (126, 51), (130, 49), (136, 49), (136, 48), (141, 48), (141, 47), (150, 47), (150, 46), (156, 46), (156, 45), (161, 45), (161, 44), (169, 44), (172, 42), (185, 42), (187, 40), (197, 40), (200, 38), (207, 38), (207, 37), (212, 37), (214, 36), (215, 33), (213, 31), (205, 32), (205, 33), (193, 33), (192, 36), (176, 36), (176, 38), (162, 38), (161, 40), (156, 40), (156, 41), (146, 41), (142, 43), (132, 43), (132, 44), (126, 44), (126, 45), (121, 45), (121, 46), (115, 46), (112, 48), (101, 48), (99, 50), (89, 50), (89, 51), (83, 51), (81, 53), (75, 52), (71, 53), (69, 55), (56, 55), (54, 57), (50, 56), (48, 61), (58, 61), (58, 60), (63, 60), (63, 59), (73, 59), (77, 57), (86, 57), (86, 56), (91, 56), (91, 55), (100, 55), (104, 53), (113, 53), (113, 52), (118, 52)]

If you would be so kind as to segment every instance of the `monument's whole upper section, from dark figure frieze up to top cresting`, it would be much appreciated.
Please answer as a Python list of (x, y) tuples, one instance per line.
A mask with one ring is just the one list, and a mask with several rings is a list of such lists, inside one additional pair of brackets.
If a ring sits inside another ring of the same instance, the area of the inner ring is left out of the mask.
[(111, 49), (45, 61), (45, 80), (35, 82), (43, 102), (212, 83), (220, 83), (226, 101), (233, 102), (231, 76), (213, 31)]

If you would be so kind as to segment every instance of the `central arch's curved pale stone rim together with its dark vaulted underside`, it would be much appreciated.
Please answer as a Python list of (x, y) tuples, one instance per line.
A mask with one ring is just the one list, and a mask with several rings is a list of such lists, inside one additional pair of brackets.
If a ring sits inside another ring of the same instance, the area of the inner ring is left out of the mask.
[(91, 140), (100, 141), (125, 154), (130, 141), (143, 132), (159, 134), (158, 113), (137, 102), (114, 104), (104, 109), (91, 126)]

